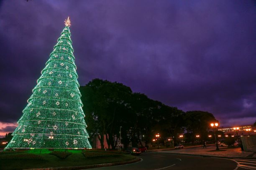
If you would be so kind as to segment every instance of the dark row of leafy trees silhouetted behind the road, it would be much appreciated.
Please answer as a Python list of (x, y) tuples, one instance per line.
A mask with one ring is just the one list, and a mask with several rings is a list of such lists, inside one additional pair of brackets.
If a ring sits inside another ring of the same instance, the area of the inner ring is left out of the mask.
[[(194, 142), (195, 134), (207, 138), (209, 124), (215, 117), (209, 112), (184, 112), (148, 98), (145, 94), (132, 92), (131, 88), (118, 82), (94, 79), (79, 87), (84, 103), (85, 121), (90, 138), (97, 135), (103, 148), (103, 137), (107, 136), (108, 146), (115, 148), (115, 136), (119, 138), (122, 126), (122, 144), (126, 147), (144, 141), (151, 143), (156, 133), (161, 140), (174, 137), (177, 143), (180, 134), (187, 142)], [(116, 139), (117, 140), (117, 139)], [(119, 139), (118, 139), (119, 140)]]

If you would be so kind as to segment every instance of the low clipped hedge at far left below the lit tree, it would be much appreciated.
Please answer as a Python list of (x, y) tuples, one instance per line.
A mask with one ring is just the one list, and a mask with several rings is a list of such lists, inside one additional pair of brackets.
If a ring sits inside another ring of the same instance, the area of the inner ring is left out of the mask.
[(32, 153), (0, 154), (0, 160), (44, 160), (40, 155)]

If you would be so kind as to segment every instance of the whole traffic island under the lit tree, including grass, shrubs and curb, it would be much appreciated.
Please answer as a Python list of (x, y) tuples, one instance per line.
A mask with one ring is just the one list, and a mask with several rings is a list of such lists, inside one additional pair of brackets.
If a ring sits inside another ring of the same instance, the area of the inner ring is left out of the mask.
[[(29, 150), (26, 152), (0, 153), (0, 169), (40, 169), (40, 170), (75, 170), (95, 167), (123, 165), (140, 161), (139, 158), (117, 152), (68, 150), (64, 154), (52, 154), (49, 150)], [(51, 153), (51, 154), (50, 154)], [(86, 155), (86, 156), (85, 156)], [(26, 163), (24, 163), (26, 162)]]

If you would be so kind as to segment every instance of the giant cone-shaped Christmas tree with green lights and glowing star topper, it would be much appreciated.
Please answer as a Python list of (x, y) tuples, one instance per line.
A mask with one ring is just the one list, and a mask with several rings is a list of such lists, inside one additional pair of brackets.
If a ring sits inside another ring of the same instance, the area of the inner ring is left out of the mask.
[(92, 148), (78, 89), (69, 18), (65, 25), (6, 148)]

